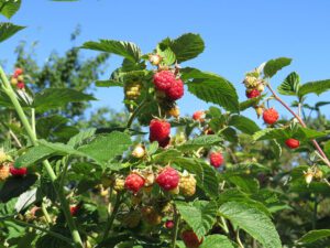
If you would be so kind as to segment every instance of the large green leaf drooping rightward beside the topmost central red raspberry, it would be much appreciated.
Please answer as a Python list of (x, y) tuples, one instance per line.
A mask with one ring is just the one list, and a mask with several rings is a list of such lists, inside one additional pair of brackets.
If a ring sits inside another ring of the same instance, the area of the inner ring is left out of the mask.
[(199, 99), (220, 105), (226, 110), (239, 112), (239, 97), (233, 85), (226, 78), (204, 73), (196, 68), (184, 68), (183, 79), (187, 83), (188, 90)]

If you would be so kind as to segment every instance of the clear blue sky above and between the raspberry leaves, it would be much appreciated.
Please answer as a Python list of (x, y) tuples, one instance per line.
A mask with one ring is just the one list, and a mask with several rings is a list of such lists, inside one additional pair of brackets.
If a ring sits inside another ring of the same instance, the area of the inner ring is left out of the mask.
[[(38, 41), (37, 58), (43, 62), (51, 51), (61, 53), (73, 45), (69, 34), (78, 24), (81, 35), (74, 45), (98, 39), (127, 40), (139, 44), (145, 53), (166, 36), (194, 32), (201, 34), (206, 50), (183, 66), (224, 76), (238, 86), (240, 100), (244, 100), (241, 84), (244, 73), (270, 58), (294, 58), (292, 66), (274, 77), (275, 87), (293, 71), (299, 73), (302, 82), (330, 78), (329, 11), (327, 0), (23, 0), (12, 22), (28, 29), (0, 45), (0, 60), (8, 60), (10, 65), (14, 47), (25, 40)], [(119, 62), (117, 57), (110, 60), (109, 75)], [(94, 107), (123, 108), (120, 88), (101, 88), (96, 96), (100, 100)], [(329, 97), (330, 91), (309, 100), (329, 100)], [(178, 104), (182, 112), (189, 115), (207, 107), (189, 94)], [(323, 111), (330, 115), (327, 107)], [(251, 110), (245, 115), (255, 117)], [(287, 116), (285, 111), (284, 115)]]

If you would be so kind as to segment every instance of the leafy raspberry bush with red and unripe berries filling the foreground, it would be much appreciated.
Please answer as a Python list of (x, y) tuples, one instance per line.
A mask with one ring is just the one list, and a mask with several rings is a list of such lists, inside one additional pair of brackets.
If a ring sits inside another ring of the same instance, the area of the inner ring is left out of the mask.
[[(20, 2), (4, 1), (0, 13), (11, 18)], [(4, 41), (23, 28), (0, 29)], [(300, 84), (292, 73), (275, 91), (272, 77), (292, 63), (279, 57), (242, 76), (240, 100), (235, 84), (189, 67), (204, 48), (194, 33), (150, 53), (125, 41), (84, 43), (107, 54), (100, 64), (123, 57), (96, 82), (123, 88), (128, 118), (110, 128), (59, 115), (73, 118), (92, 95), (38, 91), (29, 68), (0, 67), (0, 111), (10, 117), (1, 120), (0, 247), (328, 247), (330, 125), (320, 108), (329, 103), (307, 99), (330, 80)], [(188, 93), (210, 107), (180, 116)]]

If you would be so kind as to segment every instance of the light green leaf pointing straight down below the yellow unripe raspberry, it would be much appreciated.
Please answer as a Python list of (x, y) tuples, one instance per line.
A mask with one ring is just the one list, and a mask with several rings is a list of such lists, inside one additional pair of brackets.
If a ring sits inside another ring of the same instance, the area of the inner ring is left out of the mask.
[(196, 201), (194, 203), (175, 202), (183, 219), (200, 239), (216, 223), (218, 205), (216, 202)]

